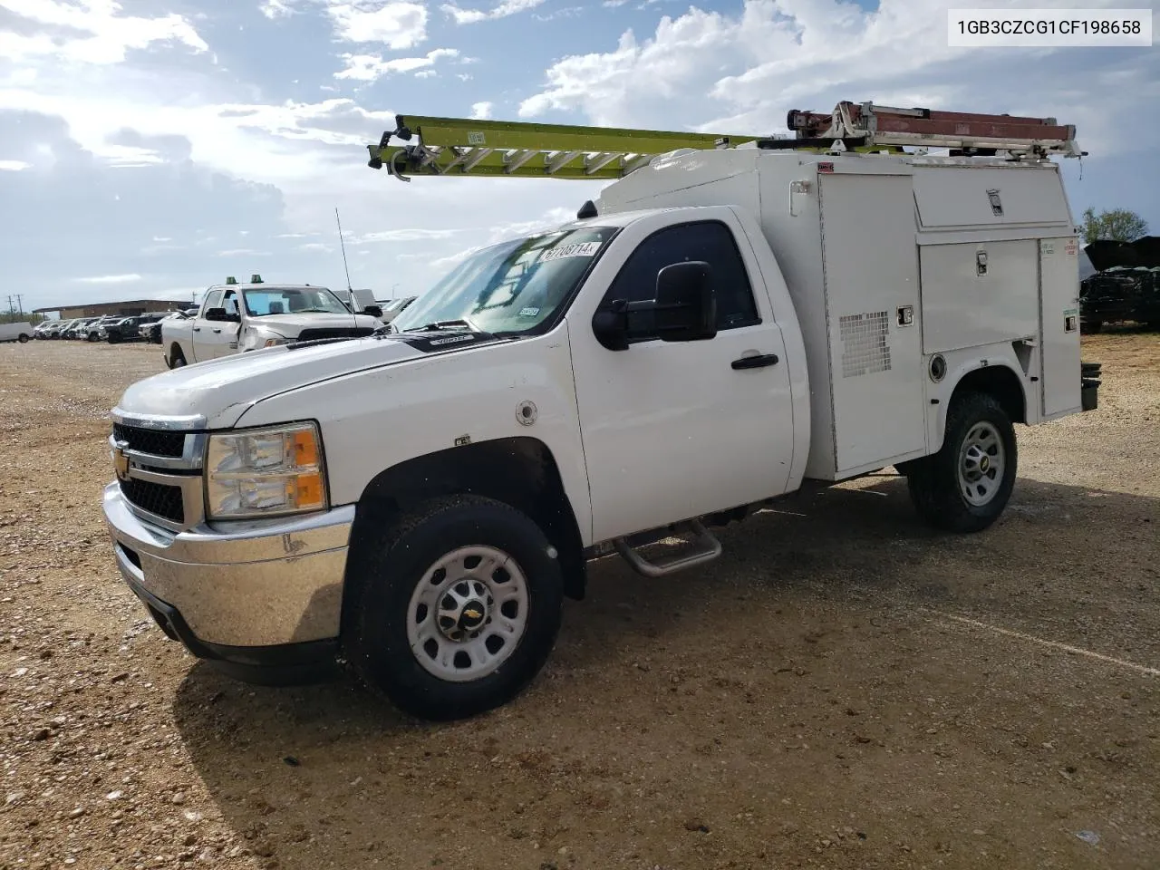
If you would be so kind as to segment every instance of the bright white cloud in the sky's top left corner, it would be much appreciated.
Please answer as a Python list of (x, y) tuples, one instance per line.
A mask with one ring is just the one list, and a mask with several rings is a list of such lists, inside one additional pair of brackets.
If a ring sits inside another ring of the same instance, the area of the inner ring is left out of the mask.
[(176, 43), (209, 51), (183, 15), (122, 15), (115, 0), (0, 0), (0, 9), (32, 22), (31, 32), (0, 31), (0, 58), (15, 63), (57, 57), (86, 64), (119, 64), (129, 50), (153, 43)]

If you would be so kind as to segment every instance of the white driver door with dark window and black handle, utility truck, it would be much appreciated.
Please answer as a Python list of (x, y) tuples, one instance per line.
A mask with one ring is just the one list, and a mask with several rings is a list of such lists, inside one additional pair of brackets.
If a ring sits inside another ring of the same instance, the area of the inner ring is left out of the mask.
[[(732, 212), (717, 213), (720, 219), (674, 224), (660, 216), (630, 226), (624, 237), (637, 239), (621, 263), (603, 264), (603, 274), (616, 274), (599, 305), (577, 306), (568, 317), (593, 541), (785, 491), (793, 416), (782, 329), (748, 239)], [(715, 338), (641, 335), (626, 350), (596, 340), (593, 307), (654, 298), (657, 274), (689, 260), (712, 268)]]

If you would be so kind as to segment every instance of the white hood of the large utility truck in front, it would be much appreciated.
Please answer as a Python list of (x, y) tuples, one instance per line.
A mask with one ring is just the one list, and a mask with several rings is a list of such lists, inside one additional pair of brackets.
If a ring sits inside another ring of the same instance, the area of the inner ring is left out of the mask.
[[(349, 317), (340, 319), (350, 324)], [(441, 338), (447, 336), (441, 333)], [(478, 343), (463, 341), (466, 347)], [(358, 369), (422, 358), (430, 350), (411, 334), (252, 350), (138, 380), (124, 392), (117, 411), (126, 415), (197, 415), (204, 418), (205, 428), (225, 428), (261, 399)]]

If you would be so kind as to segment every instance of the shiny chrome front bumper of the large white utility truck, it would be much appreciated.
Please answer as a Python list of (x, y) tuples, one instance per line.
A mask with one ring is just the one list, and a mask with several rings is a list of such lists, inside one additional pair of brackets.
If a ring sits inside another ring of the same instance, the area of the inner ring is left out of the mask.
[(103, 507), (125, 582), (154, 617), (176, 615), (166, 631), (180, 626), (195, 655), (238, 659), (206, 652), (338, 638), (354, 506), (176, 534), (143, 522), (115, 483)]

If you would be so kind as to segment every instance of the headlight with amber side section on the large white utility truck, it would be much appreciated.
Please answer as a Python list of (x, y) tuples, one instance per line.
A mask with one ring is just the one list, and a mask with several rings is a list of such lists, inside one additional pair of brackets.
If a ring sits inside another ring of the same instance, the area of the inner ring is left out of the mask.
[(241, 520), (325, 510), (325, 473), (314, 423), (210, 435), (205, 514)]

